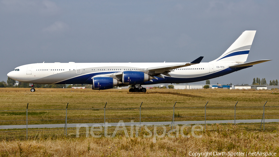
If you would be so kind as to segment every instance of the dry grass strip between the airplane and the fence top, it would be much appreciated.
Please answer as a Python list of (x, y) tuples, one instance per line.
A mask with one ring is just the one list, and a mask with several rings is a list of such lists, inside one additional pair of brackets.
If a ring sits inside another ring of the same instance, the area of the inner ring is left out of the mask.
[(229, 90), (229, 89), (149, 89), (147, 93), (129, 93), (127, 89), (96, 91), (91, 89), (0, 88), (0, 110), (38, 108), (103, 108), (111, 107), (193, 107), (204, 106), (267, 106), (278, 105), (279, 90)]

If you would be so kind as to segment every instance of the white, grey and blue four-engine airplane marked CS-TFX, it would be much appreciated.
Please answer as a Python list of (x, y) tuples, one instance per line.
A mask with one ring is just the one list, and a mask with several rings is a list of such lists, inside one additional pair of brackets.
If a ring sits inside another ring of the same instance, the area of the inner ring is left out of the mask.
[(271, 60), (246, 62), (255, 30), (244, 31), (217, 59), (201, 63), (203, 56), (185, 63), (35, 63), (16, 67), (7, 76), (33, 84), (91, 84), (94, 90), (129, 86), (129, 92), (146, 92), (142, 85), (191, 83), (216, 78)]

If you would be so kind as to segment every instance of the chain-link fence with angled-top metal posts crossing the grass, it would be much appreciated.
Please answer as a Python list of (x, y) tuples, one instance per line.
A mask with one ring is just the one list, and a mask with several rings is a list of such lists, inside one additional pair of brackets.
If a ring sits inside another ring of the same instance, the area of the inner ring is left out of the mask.
[[(255, 107), (141, 107), (138, 108), (85, 108), (0, 110), (2, 138), (26, 136), (76, 135), (77, 128), (104, 127), (111, 133), (120, 126), (200, 124), (206, 130), (216, 125), (235, 129), (278, 130), (279, 106)], [(106, 132), (107, 131), (107, 132)]]

